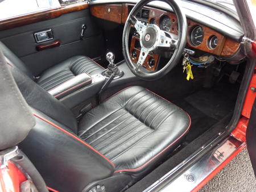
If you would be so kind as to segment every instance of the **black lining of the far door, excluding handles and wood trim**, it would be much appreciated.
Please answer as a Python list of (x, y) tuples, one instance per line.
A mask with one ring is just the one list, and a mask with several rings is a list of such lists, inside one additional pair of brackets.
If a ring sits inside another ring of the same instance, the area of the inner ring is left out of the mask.
[[(86, 24), (84, 40), (80, 39), (82, 24)], [(48, 29), (53, 32), (53, 40), (36, 43), (34, 33)], [(56, 40), (60, 41), (59, 47), (36, 51), (36, 45), (49, 44)], [(0, 41), (5, 43), (36, 76), (69, 57), (85, 55), (93, 58), (100, 56), (105, 49), (102, 32), (90, 16), (89, 9), (0, 31)]]

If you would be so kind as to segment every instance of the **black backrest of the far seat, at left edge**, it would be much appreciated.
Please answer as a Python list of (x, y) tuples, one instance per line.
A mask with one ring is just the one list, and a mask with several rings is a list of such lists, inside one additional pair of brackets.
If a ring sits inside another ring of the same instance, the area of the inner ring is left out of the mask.
[(32, 72), (27, 68), (27, 66), (20, 60), (5, 44), (0, 41), (0, 48), (3, 51), (3, 55), (5, 55), (7, 63), (12, 66), (15, 66), (19, 70), (21, 70), (24, 74), (26, 74), (31, 80), (34, 79)]

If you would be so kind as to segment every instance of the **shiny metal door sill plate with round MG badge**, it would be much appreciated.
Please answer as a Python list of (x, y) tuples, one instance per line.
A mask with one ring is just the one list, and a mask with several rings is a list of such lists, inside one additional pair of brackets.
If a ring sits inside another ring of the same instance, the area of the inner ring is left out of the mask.
[[(172, 170), (172, 173), (167, 173), (168, 175), (160, 178), (160, 180), (144, 191), (191, 191), (243, 145), (245, 143), (242, 143), (233, 136), (229, 136), (174, 180), (171, 180), (175, 172), (175, 170)], [(181, 164), (184, 164), (185, 161)]]

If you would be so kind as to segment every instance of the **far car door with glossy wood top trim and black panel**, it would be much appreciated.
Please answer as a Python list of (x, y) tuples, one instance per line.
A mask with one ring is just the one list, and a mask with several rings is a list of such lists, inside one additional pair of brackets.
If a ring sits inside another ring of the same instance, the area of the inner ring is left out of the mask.
[[(43, 2), (30, 2), (34, 1)], [(59, 3), (58, 0), (52, 1)], [(105, 50), (102, 32), (90, 15), (88, 3), (81, 0), (2, 20), (0, 41), (11, 49), (35, 76), (69, 57), (84, 55), (93, 59), (102, 55)]]

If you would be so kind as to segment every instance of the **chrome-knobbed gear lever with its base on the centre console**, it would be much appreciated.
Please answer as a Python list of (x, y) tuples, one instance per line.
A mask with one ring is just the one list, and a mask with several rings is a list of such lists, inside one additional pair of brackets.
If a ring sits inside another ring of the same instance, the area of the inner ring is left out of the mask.
[(109, 61), (108, 69), (104, 72), (104, 76), (109, 78), (114, 73), (114, 79), (120, 78), (123, 76), (123, 72), (118, 69), (118, 66), (114, 63), (115, 55), (112, 52), (106, 54), (106, 60)]

